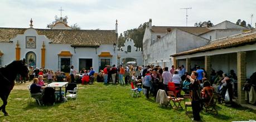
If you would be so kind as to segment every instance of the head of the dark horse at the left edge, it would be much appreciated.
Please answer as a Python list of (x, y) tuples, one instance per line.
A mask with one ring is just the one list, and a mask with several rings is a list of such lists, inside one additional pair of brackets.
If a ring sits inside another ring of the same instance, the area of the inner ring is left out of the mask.
[(28, 68), (26, 64), (26, 60), (18, 60), (16, 61), (16, 69), (17, 73), (20, 74), (22, 77), (27, 77), (28, 76)]

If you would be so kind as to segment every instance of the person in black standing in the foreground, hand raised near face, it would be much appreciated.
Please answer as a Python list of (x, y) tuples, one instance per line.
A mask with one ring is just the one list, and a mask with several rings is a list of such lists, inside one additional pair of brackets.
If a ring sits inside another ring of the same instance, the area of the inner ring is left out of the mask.
[(192, 111), (193, 111), (193, 117), (195, 121), (200, 121), (200, 98), (201, 98), (201, 92), (200, 92), (200, 81), (196, 79), (198, 77), (198, 74), (193, 71), (191, 76), (187, 75), (187, 78), (190, 79), (191, 85), (190, 89), (192, 92)]

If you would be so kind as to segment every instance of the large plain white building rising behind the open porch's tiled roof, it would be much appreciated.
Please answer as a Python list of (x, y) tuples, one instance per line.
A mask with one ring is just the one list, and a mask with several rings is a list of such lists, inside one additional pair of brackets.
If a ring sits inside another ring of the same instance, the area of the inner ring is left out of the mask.
[[(170, 55), (209, 44), (211, 40), (242, 33), (247, 28), (224, 21), (211, 28), (149, 26), (143, 37), (143, 64), (171, 67)], [(184, 61), (185, 62), (185, 61)], [(183, 62), (183, 63), (184, 63)], [(181, 62), (182, 63), (182, 62)], [(203, 64), (195, 61), (193, 64)]]

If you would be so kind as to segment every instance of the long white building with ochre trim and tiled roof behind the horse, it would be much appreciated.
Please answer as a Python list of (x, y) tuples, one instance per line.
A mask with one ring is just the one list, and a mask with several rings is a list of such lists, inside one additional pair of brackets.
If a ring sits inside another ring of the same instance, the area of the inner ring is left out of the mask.
[[(117, 23), (115, 30), (71, 30), (64, 22), (52, 29), (0, 28), (0, 66), (25, 58), (28, 65), (61, 70), (95, 72), (105, 65), (117, 64)], [(63, 28), (61, 28), (63, 27)]]

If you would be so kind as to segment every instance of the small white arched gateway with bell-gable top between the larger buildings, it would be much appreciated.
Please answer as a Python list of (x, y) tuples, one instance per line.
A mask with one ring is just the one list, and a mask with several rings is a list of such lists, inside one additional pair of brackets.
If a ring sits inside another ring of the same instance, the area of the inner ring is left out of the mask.
[(118, 49), (118, 60), (123, 65), (133, 61), (142, 65), (142, 49), (134, 46), (133, 39), (127, 38), (124, 47)]

